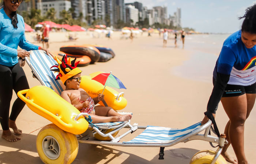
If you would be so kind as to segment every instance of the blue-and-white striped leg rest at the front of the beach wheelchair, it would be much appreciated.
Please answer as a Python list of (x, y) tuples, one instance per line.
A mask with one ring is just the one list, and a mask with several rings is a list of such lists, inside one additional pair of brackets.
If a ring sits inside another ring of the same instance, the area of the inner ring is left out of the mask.
[(183, 137), (201, 126), (201, 122), (189, 126), (185, 129), (173, 129), (159, 126), (147, 126), (147, 128), (133, 138), (131, 141), (123, 142), (124, 144), (166, 144)]

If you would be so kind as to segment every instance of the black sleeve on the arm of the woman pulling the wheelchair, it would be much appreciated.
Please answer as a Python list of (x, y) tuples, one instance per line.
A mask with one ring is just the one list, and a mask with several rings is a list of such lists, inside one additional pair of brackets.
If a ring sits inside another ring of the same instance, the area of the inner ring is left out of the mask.
[(229, 77), (230, 75), (217, 72), (217, 79), (215, 79), (216, 81), (207, 104), (207, 111), (215, 114), (218, 109), (218, 104), (221, 101), (222, 94), (227, 86), (227, 82), (229, 82)]

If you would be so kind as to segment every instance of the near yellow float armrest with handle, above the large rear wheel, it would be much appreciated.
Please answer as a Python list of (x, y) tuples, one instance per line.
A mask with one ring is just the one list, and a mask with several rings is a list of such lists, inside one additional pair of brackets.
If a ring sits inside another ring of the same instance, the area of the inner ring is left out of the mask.
[[(23, 94), (26, 94), (26, 97)], [(74, 120), (80, 113), (79, 110), (46, 86), (35, 86), (19, 91), (18, 97), (26, 102), (33, 112), (66, 132), (82, 134), (88, 128), (88, 122), (83, 116), (80, 116), (77, 121)]]

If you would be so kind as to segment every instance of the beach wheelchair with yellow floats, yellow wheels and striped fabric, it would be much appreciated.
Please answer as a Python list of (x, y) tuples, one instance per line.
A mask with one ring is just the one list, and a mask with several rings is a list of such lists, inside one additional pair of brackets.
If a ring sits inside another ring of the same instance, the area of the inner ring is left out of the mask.
[[(30, 51), (30, 58), (25, 58), (25, 60), (42, 86), (19, 91), (18, 97), (26, 102), (35, 113), (53, 123), (44, 126), (37, 135), (37, 152), (44, 163), (72, 163), (78, 153), (78, 142), (122, 147), (160, 147), (159, 159), (163, 159), (165, 147), (179, 142), (204, 140), (219, 144), (217, 151), (197, 152), (190, 164), (226, 164), (220, 154), (227, 141), (224, 135), (219, 137), (209, 135), (212, 121), (209, 120), (202, 126), (201, 122), (198, 122), (184, 129), (132, 126), (130, 120), (92, 124), (87, 117), (86, 119), (83, 117), (89, 114), (80, 113), (73, 105), (60, 97), (59, 94), (65, 86), (60, 81), (56, 81), (56, 75), (50, 71), (50, 67), (56, 63), (52, 57), (46, 55), (44, 51), (36, 50)], [(103, 90), (103, 85), (91, 80), (89, 76), (83, 76), (80, 87), (86, 90), (91, 97), (95, 97)], [(125, 108), (127, 101), (123, 97), (124, 93), (118, 93), (110, 87), (106, 87), (104, 93), (106, 103), (101, 105), (109, 105), (114, 110)], [(116, 137), (122, 128), (129, 129)], [(137, 129), (144, 129), (144, 131), (131, 141), (120, 142), (121, 138)], [(199, 134), (203, 130), (205, 130), (204, 134)], [(90, 138), (93, 137), (98, 140), (91, 140)]]

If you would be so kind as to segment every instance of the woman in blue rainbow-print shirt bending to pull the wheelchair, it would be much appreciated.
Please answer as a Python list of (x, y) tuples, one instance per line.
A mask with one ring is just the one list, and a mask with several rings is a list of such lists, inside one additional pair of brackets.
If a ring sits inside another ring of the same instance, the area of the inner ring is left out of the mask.
[[(233, 164), (248, 164), (244, 152), (244, 126), (256, 98), (256, 4), (247, 8), (241, 30), (231, 34), (223, 43), (217, 59), (212, 93), (207, 113), (215, 112), (219, 101), (229, 117), (226, 124), (226, 144), (222, 155)], [(208, 121), (203, 118), (202, 124)], [(232, 145), (237, 159), (226, 151)]]

